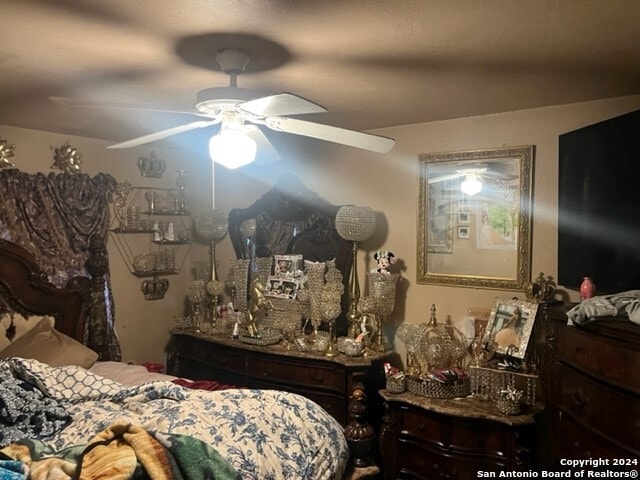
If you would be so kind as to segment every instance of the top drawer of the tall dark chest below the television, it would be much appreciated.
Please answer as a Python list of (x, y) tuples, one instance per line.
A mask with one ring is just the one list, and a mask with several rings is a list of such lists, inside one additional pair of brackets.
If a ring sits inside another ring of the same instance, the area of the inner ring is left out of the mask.
[[(597, 320), (596, 320), (597, 322)], [(582, 327), (558, 325), (558, 357), (576, 368), (640, 392), (640, 351)]]

